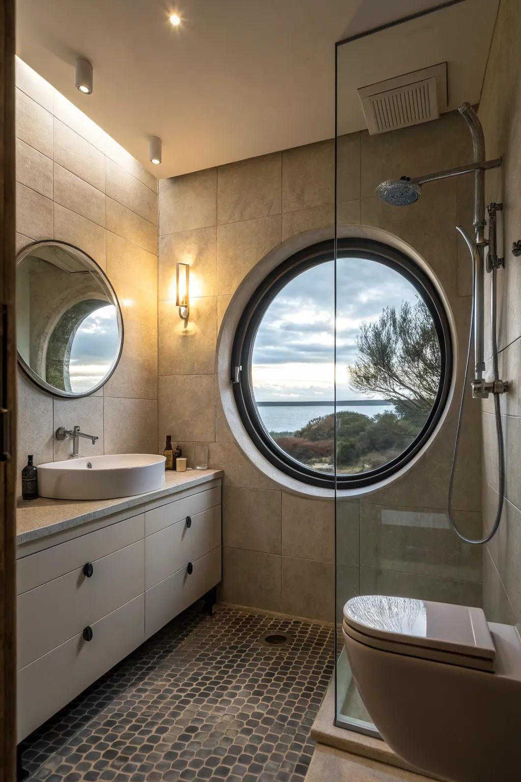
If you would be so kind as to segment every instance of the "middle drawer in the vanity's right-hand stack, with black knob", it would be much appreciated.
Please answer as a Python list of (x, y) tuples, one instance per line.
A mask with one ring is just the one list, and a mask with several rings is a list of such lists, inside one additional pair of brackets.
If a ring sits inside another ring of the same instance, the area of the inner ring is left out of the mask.
[(145, 539), (145, 589), (221, 544), (221, 506), (172, 524)]

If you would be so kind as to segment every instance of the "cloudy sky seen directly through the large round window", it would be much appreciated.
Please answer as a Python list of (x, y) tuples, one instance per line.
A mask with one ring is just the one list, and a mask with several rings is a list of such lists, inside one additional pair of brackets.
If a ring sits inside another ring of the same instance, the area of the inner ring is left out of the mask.
[[(384, 307), (414, 303), (416, 291), (401, 274), (371, 260), (337, 261), (337, 399), (351, 391), (361, 321)], [(280, 291), (255, 338), (252, 382), (257, 401), (326, 401), (334, 398), (334, 262), (299, 274)]]

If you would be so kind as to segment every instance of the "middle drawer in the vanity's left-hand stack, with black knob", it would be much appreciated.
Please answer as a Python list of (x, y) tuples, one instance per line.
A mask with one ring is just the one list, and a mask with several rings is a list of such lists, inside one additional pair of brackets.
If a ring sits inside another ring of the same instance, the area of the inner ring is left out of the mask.
[(90, 578), (82, 565), (18, 596), (19, 669), (145, 591), (145, 540), (91, 564)]

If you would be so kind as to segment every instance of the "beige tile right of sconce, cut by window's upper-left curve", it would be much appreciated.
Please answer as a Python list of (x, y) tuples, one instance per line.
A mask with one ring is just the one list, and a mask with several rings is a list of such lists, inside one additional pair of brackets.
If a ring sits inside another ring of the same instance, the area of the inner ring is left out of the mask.
[(280, 216), (217, 228), (217, 293), (234, 293), (255, 264), (282, 238)]

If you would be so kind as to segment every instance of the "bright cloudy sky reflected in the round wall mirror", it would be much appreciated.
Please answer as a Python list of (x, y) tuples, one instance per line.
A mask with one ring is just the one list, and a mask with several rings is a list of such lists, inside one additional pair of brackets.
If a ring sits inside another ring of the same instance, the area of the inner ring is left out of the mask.
[(116, 308), (100, 307), (88, 315), (70, 350), (70, 385), (75, 393), (88, 391), (105, 377), (119, 344)]

